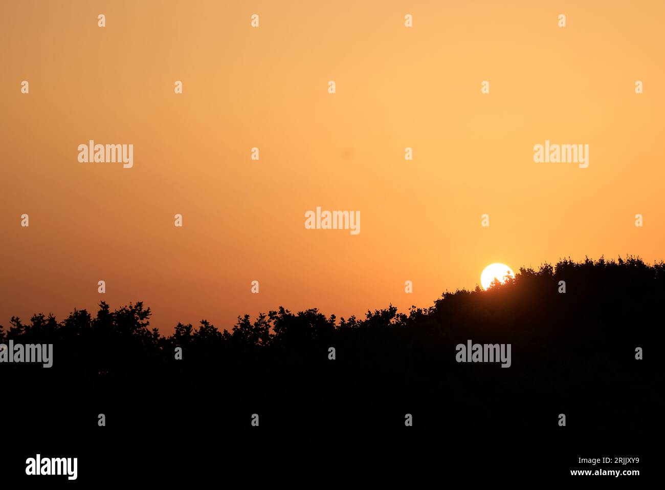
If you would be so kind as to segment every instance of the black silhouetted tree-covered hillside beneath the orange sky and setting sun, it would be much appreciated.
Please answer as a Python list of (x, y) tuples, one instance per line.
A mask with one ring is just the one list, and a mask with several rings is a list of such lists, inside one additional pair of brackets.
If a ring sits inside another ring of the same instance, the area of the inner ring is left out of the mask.
[[(72, 453), (92, 445), (101, 451), (95, 454), (132, 451), (140, 461), (138, 447), (128, 444), (140, 434), (151, 447), (164, 446), (164, 474), (174, 440), (180, 451), (203, 458), (211, 449), (202, 448), (218, 439), (238, 451), (260, 445), (275, 456), (286, 441), (351, 451), (346, 444), (358, 434), (377, 447), (395, 447), (398, 437), (401, 447), (420, 448), (420, 463), (436, 455), (426, 447), (445, 440), (466, 465), (475, 461), (466, 454), (484, 448), (478, 464), (485, 468), (491, 461), (523, 468), (531, 457), (533, 467), (573, 469), (592, 450), (639, 455), (650, 437), (650, 373), (664, 293), (663, 262), (601, 258), (520, 269), (487, 291), (446, 292), (428, 308), (400, 313), (388, 306), (364, 318), (279, 308), (238, 318), (230, 331), (202, 321), (196, 328), (178, 324), (171, 336), (150, 328), (150, 309), (141, 302), (114, 311), (102, 302), (95, 316), (74, 311), (60, 322), (13, 318), (0, 329), (0, 342), (53, 344), (53, 367), (0, 364), (12, 403), (5, 421), (17, 434), (33, 427), (57, 454), (70, 441)], [(457, 346), (469, 340), (510, 344), (510, 366), (458, 362)], [(636, 348), (644, 360), (636, 360)], [(97, 427), (99, 413), (108, 427)], [(251, 431), (255, 413), (261, 433)], [(567, 427), (557, 423), (561, 413)], [(405, 427), (406, 414), (413, 427)], [(217, 439), (208, 440), (209, 433)], [(525, 448), (533, 445), (539, 451), (531, 455)], [(35, 445), (15, 454), (15, 464), (23, 464), (18, 460), (34, 455)], [(394, 457), (381, 454), (382, 464)], [(254, 464), (241, 453), (225, 457)], [(103, 473), (104, 461), (91, 456), (82, 467)]]

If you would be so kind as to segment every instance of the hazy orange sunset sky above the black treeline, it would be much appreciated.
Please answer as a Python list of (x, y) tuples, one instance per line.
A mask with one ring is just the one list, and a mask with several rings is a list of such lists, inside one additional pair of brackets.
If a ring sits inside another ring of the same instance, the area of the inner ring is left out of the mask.
[[(0, 324), (142, 300), (165, 334), (230, 328), (430, 306), (491, 262), (665, 258), (665, 3), (579, 3), (3, 1)], [(134, 166), (78, 162), (90, 139)], [(546, 139), (589, 168), (535, 163)], [(317, 206), (360, 234), (306, 230)]]

